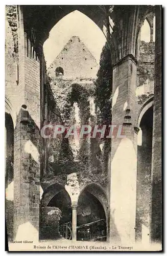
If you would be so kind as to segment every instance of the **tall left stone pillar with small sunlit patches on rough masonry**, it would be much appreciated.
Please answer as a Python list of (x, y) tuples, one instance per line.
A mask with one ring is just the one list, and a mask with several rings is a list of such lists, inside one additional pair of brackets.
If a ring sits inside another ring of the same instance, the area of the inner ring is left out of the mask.
[(14, 239), (37, 241), (40, 203), (40, 63), (30, 47), (20, 6), (17, 13), (20, 94), (14, 130)]

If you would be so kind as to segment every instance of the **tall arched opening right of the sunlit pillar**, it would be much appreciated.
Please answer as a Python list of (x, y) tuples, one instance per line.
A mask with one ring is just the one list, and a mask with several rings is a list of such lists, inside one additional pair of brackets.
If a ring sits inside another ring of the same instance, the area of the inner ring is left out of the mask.
[(139, 116), (139, 119), (140, 132), (137, 146), (136, 240), (149, 243), (153, 104), (148, 109), (147, 105), (145, 106), (145, 112), (142, 112), (142, 117)]

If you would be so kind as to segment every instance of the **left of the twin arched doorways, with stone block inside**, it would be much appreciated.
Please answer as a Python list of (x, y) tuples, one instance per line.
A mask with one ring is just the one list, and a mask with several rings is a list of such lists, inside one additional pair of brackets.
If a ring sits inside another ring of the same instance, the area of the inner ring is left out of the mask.
[(71, 239), (71, 218), (71, 199), (67, 191), (59, 184), (51, 185), (42, 195), (40, 239)]

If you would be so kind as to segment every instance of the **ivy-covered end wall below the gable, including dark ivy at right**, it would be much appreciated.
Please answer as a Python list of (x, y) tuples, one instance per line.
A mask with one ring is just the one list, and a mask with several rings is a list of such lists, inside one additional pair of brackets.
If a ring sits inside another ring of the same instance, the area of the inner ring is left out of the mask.
[[(106, 43), (101, 54), (100, 68), (96, 81), (92, 84), (78, 84), (72, 80), (55, 77), (48, 78), (49, 87), (52, 90), (52, 102), (49, 106), (51, 111), (51, 123), (55, 122), (60, 115), (61, 124), (71, 126), (76, 124), (74, 103), (78, 104), (79, 118), (81, 124), (91, 122), (95, 124), (111, 124), (111, 97), (112, 97), (112, 68), (111, 54)], [(91, 116), (90, 97), (95, 104), (95, 116)], [(74, 142), (75, 143), (75, 142)], [(104, 143), (103, 150), (100, 144)], [(76, 172), (79, 182), (97, 180), (105, 185), (107, 182), (108, 156), (110, 151), (110, 139), (82, 139), (78, 151), (77, 161), (74, 157), (70, 141), (61, 136), (60, 139), (50, 139), (47, 143), (47, 178), (54, 179), (55, 176), (67, 175)], [(50, 161), (51, 159), (51, 161)], [(95, 176), (96, 178), (95, 178)]]

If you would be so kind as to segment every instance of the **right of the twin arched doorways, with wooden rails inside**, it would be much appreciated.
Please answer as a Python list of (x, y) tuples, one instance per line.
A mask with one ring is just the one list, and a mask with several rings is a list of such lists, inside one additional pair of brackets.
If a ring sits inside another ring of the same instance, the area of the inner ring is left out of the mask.
[[(102, 193), (101, 193), (102, 192)], [(104, 209), (106, 207), (106, 209)], [(106, 241), (107, 198), (97, 184), (90, 184), (82, 191), (77, 207), (77, 240)]]

